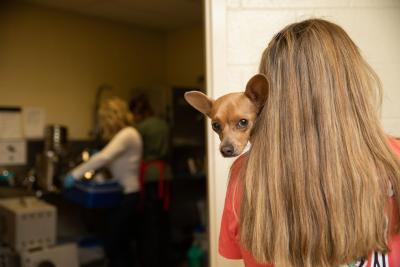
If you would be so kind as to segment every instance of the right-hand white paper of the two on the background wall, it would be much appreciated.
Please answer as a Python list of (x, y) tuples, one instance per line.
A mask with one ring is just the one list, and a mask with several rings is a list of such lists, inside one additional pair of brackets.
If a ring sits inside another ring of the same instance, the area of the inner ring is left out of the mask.
[(44, 108), (24, 107), (22, 113), (25, 138), (42, 138), (46, 124)]

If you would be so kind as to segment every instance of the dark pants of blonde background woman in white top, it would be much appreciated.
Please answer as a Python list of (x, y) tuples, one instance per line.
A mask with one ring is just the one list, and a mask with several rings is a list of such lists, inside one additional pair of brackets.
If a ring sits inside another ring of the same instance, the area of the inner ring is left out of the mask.
[(139, 200), (139, 193), (126, 194), (119, 206), (108, 215), (105, 251), (110, 267), (135, 266), (131, 245), (139, 227)]

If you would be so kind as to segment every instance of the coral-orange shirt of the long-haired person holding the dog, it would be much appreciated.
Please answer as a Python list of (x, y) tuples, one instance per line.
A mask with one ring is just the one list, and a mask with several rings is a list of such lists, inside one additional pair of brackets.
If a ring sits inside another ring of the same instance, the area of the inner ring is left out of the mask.
[[(400, 156), (400, 141), (390, 139), (389, 143), (393, 151)], [(235, 195), (235, 186), (240, 167), (245, 157), (246, 155), (239, 157), (233, 163), (231, 168), (219, 235), (219, 253), (228, 259), (243, 259), (246, 267), (274, 267), (271, 264), (265, 265), (257, 263), (252, 255), (248, 251), (244, 250), (239, 243), (239, 224), (237, 214), (240, 210), (240, 197), (237, 197), (237, 194)], [(396, 218), (394, 203), (395, 200), (391, 197), (389, 200), (389, 209), (393, 218)], [(392, 220), (392, 225), (395, 223), (396, 222)], [(371, 253), (368, 262), (365, 261), (365, 263), (357, 264), (357, 266), (400, 267), (400, 234), (391, 235), (389, 240), (389, 249), (390, 252), (388, 255)]]

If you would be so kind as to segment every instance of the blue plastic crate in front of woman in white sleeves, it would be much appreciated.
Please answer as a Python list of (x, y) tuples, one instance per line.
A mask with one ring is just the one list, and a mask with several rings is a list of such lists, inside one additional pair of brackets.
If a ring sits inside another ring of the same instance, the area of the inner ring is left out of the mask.
[(122, 198), (122, 187), (116, 181), (77, 181), (71, 189), (63, 192), (64, 196), (85, 208), (112, 208)]

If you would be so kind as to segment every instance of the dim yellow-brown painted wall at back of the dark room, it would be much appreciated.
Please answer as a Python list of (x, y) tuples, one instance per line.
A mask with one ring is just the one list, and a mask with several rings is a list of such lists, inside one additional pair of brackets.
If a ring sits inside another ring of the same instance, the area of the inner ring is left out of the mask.
[(8, 1), (0, 8), (0, 106), (46, 109), (48, 123), (83, 139), (96, 88), (165, 84), (165, 36), (107, 20)]

